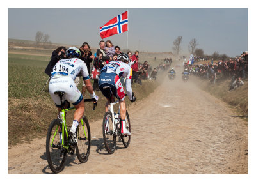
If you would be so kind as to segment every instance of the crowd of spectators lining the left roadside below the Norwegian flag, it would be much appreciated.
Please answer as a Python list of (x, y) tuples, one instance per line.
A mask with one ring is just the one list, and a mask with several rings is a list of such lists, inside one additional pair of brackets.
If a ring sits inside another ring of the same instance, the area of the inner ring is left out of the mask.
[[(49, 62), (49, 65), (45, 69), (45, 73), (47, 75), (51, 75), (51, 70), (53, 66), (60, 60), (65, 57), (64, 53), (65, 50), (67, 50), (65, 47), (58, 47), (56, 50), (52, 52), (52, 58)], [(104, 40), (100, 40), (99, 42), (99, 48), (96, 50), (96, 52), (93, 54), (92, 49), (90, 49), (90, 45), (87, 42), (84, 42), (83, 45), (79, 48), (81, 52), (81, 56), (79, 59), (83, 60), (84, 63), (86, 63), (86, 66), (88, 68), (88, 72), (90, 74), (90, 78), (93, 79), (93, 89), (96, 91), (99, 91), (99, 73), (101, 68), (105, 64), (108, 64), (110, 61), (117, 60), (118, 54), (122, 53), (120, 51), (120, 47), (118, 45), (113, 45), (111, 40), (107, 40), (106, 42)], [(148, 61), (144, 61), (143, 63), (139, 60), (139, 51), (136, 50), (134, 54), (132, 54), (131, 51), (124, 52), (127, 53), (131, 62), (130, 66), (132, 68), (132, 84), (138, 83), (142, 84), (141, 80), (150, 78), (151, 73), (153, 73), (152, 77), (156, 79), (157, 70), (165, 70), (167, 69), (167, 66), (172, 62), (172, 59), (166, 59), (166, 64), (161, 64), (159, 67), (152, 70), (152, 66), (148, 64)], [(155, 57), (156, 58), (156, 57)], [(76, 86), (79, 85), (79, 82), (81, 80), (81, 75), (78, 75), (76, 79), (74, 80)], [(124, 84), (124, 79), (121, 80)], [(85, 85), (82, 86), (82, 93), (84, 94), (86, 90)]]

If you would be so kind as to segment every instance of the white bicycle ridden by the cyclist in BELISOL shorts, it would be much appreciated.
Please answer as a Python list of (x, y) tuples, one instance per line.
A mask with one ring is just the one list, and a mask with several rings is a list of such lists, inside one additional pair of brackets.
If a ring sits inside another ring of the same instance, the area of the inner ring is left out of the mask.
[[(109, 86), (104, 87), (104, 89), (108, 89), (108, 92), (111, 95), (110, 98), (113, 98), (113, 93), (111, 93), (110, 88), (111, 87)], [(126, 136), (126, 135), (122, 135), (121, 133), (120, 105), (119, 105), (117, 114), (114, 112), (114, 108), (113, 108), (113, 106), (116, 103), (119, 103), (119, 100), (117, 100), (116, 102), (112, 102), (111, 100), (108, 106), (108, 112), (104, 114), (103, 123), (102, 123), (102, 133), (103, 133), (104, 144), (109, 154), (112, 154), (115, 152), (116, 137), (118, 137), (119, 141), (122, 140), (122, 143), (124, 144), (125, 148), (127, 148), (131, 142), (131, 135)], [(129, 130), (129, 132), (131, 133), (131, 123), (130, 123), (130, 118), (127, 110), (125, 114), (125, 123), (126, 123), (125, 126), (127, 130)]]

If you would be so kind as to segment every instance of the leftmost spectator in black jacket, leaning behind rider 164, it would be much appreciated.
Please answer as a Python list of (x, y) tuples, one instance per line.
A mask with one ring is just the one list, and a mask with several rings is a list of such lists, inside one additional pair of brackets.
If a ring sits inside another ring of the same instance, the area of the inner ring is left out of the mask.
[(51, 60), (44, 71), (49, 77), (51, 77), (51, 72), (52, 72), (53, 66), (55, 66), (55, 64), (60, 59), (64, 59), (66, 57), (66, 54), (65, 54), (66, 50), (67, 50), (66, 47), (61, 46), (52, 52)]

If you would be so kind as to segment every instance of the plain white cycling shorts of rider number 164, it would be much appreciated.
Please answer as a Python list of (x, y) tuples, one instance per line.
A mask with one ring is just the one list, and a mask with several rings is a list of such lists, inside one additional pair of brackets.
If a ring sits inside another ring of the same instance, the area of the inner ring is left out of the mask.
[(65, 76), (58, 77), (56, 79), (52, 78), (49, 82), (49, 93), (52, 97), (52, 100), (57, 107), (61, 107), (60, 96), (54, 94), (56, 91), (65, 92), (62, 98), (63, 102), (67, 100), (73, 105), (77, 105), (81, 102), (81, 100), (83, 100), (83, 95), (79, 89), (77, 89), (76, 84), (71, 77)]

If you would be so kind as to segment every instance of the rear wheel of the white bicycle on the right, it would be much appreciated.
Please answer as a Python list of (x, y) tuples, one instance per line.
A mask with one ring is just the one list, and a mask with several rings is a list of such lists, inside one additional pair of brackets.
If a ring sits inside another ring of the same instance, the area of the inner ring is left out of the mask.
[(116, 136), (113, 129), (113, 119), (111, 112), (106, 112), (102, 123), (102, 133), (104, 144), (108, 153), (114, 153), (116, 148)]

